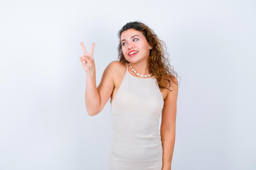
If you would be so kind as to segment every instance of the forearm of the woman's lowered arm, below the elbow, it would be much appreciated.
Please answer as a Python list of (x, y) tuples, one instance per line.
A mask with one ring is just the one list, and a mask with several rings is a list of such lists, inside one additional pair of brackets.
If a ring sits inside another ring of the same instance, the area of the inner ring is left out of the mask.
[(161, 130), (161, 140), (163, 146), (163, 169), (171, 170), (171, 161), (175, 144), (175, 128)]

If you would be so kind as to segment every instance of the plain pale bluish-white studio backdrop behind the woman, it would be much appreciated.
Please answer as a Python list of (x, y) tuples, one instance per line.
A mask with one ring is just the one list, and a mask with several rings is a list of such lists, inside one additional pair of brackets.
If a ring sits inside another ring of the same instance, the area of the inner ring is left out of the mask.
[[(110, 100), (85, 108), (79, 42), (97, 86), (117, 32), (147, 24), (180, 82), (172, 170), (256, 169), (254, 0), (0, 2), (0, 170), (105, 170)], [(160, 127), (161, 119), (159, 120)]]

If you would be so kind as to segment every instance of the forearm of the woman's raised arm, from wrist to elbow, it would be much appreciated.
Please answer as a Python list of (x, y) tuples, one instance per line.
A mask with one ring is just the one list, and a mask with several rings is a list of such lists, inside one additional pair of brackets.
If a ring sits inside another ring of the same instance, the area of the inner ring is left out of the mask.
[(97, 115), (100, 106), (100, 98), (96, 86), (95, 69), (86, 73), (85, 106), (90, 116)]

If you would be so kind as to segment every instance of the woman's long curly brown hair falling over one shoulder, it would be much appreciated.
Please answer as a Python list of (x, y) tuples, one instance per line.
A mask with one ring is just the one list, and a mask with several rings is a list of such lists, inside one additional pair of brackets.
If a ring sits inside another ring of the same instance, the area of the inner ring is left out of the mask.
[(123, 31), (126, 31), (128, 29), (136, 29), (137, 31), (141, 31), (143, 33), (146, 40), (148, 41), (148, 44), (152, 46), (148, 57), (149, 71), (153, 73), (153, 75), (155, 75), (158, 86), (161, 89), (160, 91), (163, 91), (165, 88), (171, 91), (169, 89), (170, 86), (172, 86), (173, 83), (178, 84), (179, 82), (175, 80), (175, 76), (178, 77), (177, 73), (173, 70), (173, 66), (171, 66), (168, 62), (169, 54), (166, 50), (167, 48), (165, 42), (160, 40), (155, 32), (144, 23), (139, 21), (128, 22), (122, 27), (121, 30), (118, 31), (118, 60), (120, 62), (128, 62), (124, 57), (120, 40)]

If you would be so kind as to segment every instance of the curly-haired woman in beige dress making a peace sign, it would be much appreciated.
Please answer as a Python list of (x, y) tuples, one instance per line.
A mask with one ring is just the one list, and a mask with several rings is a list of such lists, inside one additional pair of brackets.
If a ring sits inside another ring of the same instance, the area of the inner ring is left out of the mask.
[(100, 113), (111, 97), (113, 133), (108, 170), (171, 170), (178, 76), (168, 63), (165, 43), (139, 21), (124, 25), (118, 38), (119, 61), (108, 64), (98, 87), (95, 43), (88, 52), (81, 42), (88, 114)]

